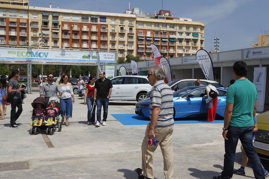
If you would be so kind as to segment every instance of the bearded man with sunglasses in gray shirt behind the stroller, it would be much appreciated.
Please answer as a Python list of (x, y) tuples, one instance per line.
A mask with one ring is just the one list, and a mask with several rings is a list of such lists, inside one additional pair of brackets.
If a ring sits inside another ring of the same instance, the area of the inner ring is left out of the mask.
[(59, 93), (59, 97), (62, 95), (62, 88), (60, 85), (53, 81), (53, 74), (49, 73), (48, 82), (45, 82), (40, 90), (40, 96), (43, 98), (50, 98), (51, 96), (57, 96), (57, 92)]

